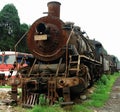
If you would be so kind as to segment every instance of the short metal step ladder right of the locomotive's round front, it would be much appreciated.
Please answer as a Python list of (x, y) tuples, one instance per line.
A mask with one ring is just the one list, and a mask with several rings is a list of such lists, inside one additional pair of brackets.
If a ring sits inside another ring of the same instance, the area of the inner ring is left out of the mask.
[(68, 67), (69, 76), (71, 75), (78, 76), (80, 71), (80, 55), (70, 55), (69, 57), (70, 57)]

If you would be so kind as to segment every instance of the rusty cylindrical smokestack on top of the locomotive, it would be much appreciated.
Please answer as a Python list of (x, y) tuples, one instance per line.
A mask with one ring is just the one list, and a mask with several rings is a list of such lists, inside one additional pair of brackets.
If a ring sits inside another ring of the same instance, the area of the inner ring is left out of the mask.
[(48, 2), (48, 16), (60, 18), (60, 5), (61, 3), (56, 1)]

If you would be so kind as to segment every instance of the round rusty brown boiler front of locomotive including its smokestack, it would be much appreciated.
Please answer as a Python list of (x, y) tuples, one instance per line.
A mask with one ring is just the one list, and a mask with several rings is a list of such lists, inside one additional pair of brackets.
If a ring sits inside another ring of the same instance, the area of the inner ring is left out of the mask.
[[(27, 38), (30, 51), (36, 58), (43, 61), (52, 61), (62, 56), (65, 52), (63, 48), (68, 38), (67, 33), (61, 27), (64, 26), (64, 23), (59, 18), (56, 18), (59, 15), (59, 8), (57, 8), (60, 7), (59, 4), (51, 2), (48, 7), (50, 11), (48, 16), (42, 17), (33, 23)], [(46, 40), (37, 40), (35, 37), (39, 35), (40, 38), (40, 35), (44, 34), (47, 35)]]

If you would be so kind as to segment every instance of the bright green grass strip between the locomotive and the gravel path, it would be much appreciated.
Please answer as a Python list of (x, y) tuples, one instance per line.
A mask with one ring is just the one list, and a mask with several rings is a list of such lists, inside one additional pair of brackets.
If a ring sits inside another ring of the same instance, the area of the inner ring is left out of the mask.
[(83, 103), (83, 106), (102, 107), (109, 99), (111, 88), (116, 78), (119, 76), (119, 73), (115, 73), (114, 75), (103, 75), (102, 78), (95, 84), (94, 93), (90, 95), (87, 102)]

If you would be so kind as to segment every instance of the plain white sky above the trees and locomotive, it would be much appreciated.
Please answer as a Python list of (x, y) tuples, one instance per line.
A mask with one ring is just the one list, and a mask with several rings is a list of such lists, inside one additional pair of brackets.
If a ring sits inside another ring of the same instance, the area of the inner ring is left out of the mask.
[[(47, 3), (53, 0), (0, 0), (0, 10), (13, 3), (21, 23), (32, 25), (46, 16)], [(80, 26), (90, 39), (100, 41), (108, 54), (120, 60), (119, 0), (54, 0), (61, 3), (60, 19)]]

